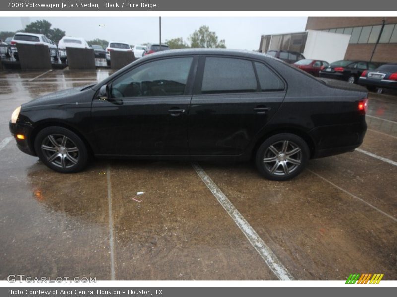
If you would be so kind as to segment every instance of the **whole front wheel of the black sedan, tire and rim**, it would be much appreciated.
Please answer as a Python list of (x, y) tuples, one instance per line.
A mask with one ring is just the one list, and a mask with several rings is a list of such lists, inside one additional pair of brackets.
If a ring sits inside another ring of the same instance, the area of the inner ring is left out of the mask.
[(78, 172), (88, 164), (84, 142), (77, 134), (63, 127), (41, 130), (34, 141), (34, 148), (40, 160), (57, 172)]

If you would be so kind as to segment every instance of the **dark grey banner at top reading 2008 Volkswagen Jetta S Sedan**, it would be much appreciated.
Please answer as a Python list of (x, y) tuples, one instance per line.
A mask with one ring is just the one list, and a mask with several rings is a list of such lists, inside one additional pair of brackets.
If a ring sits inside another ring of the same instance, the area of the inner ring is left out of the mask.
[(393, 11), (393, 0), (6, 0), (2, 11)]

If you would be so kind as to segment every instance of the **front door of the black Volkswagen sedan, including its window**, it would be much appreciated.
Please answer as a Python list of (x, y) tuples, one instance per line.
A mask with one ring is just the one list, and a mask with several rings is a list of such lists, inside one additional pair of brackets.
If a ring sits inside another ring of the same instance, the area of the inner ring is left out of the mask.
[(187, 155), (193, 61), (150, 60), (111, 81), (110, 98), (92, 102), (98, 154)]

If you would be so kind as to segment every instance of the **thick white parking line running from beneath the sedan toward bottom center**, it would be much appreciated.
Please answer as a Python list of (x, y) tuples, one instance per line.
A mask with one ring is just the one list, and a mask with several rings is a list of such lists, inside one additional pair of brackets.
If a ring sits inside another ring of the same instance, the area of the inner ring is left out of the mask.
[(282, 265), (280, 260), (276, 257), (276, 255), (271, 251), (271, 249), (265, 244), (265, 242), (259, 237), (257, 232), (251, 225), (245, 220), (245, 218), (241, 215), (241, 213), (234, 207), (232, 202), (223, 194), (222, 190), (212, 181), (212, 179), (205, 173), (205, 171), (198, 164), (192, 164), (193, 168), (196, 170), (197, 174), (204, 182), (204, 184), (208, 187), (208, 189), (212, 192), (218, 202), (222, 205), (222, 207), (226, 210), (226, 212), (230, 215), (236, 225), (240, 228), (240, 230), (247, 237), (248, 241), (251, 245), (257, 250), (257, 252), (261, 255), (262, 259), (264, 259), (267, 266), (271, 269), (271, 271), (277, 276), (280, 280), (293, 280), (291, 274), (287, 271), (287, 269)]

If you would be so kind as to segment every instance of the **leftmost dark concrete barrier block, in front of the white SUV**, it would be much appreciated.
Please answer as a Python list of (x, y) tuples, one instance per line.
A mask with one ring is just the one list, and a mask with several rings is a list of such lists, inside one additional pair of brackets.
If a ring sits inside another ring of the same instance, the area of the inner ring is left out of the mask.
[(51, 57), (46, 45), (16, 44), (22, 70), (51, 69)]

